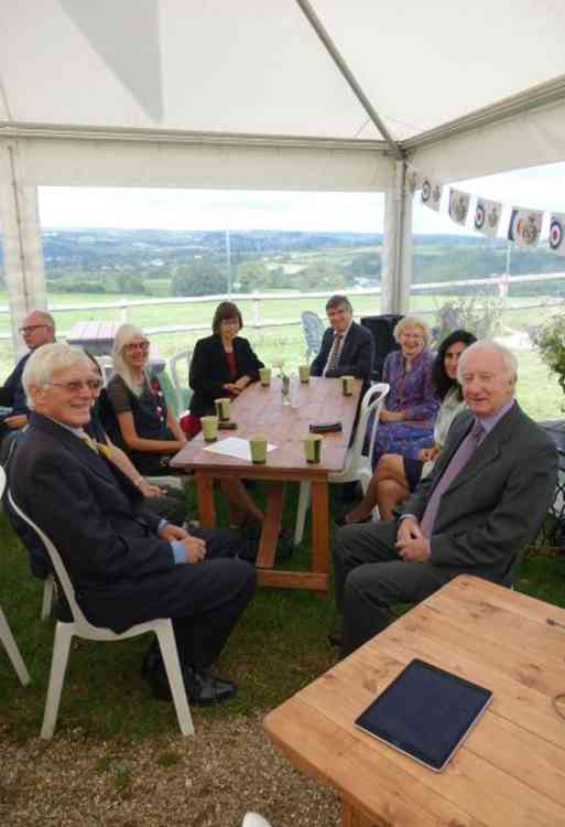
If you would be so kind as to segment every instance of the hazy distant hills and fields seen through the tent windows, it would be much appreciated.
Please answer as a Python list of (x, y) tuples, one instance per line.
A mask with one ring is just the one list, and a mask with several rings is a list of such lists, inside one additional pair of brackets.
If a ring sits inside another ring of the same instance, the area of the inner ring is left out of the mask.
[[(47, 288), (54, 292), (198, 296), (210, 291), (346, 289), (380, 282), (380, 233), (47, 228)], [(0, 270), (2, 251), (0, 248)], [(546, 246), (510, 249), (504, 239), (421, 235), (413, 238), (414, 282), (561, 272)], [(551, 282), (513, 288), (562, 294)], [(204, 292), (203, 292), (204, 291)]]

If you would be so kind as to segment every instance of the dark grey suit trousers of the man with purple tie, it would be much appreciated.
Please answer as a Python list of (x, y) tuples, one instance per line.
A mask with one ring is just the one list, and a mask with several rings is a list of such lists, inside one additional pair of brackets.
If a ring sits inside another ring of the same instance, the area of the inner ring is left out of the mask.
[(419, 603), (454, 577), (428, 562), (404, 562), (395, 549), (398, 523), (344, 526), (333, 555), (336, 604), (344, 615), (341, 655), (388, 625), (394, 603)]

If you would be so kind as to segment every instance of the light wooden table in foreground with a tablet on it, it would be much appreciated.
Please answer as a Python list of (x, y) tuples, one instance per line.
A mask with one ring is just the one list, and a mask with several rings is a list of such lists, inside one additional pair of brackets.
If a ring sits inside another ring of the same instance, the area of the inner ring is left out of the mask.
[[(565, 825), (565, 611), (458, 577), (265, 719), (271, 739), (341, 796), (346, 827)], [(320, 632), (322, 633), (322, 632)], [(413, 658), (493, 692), (443, 773), (355, 729)]]

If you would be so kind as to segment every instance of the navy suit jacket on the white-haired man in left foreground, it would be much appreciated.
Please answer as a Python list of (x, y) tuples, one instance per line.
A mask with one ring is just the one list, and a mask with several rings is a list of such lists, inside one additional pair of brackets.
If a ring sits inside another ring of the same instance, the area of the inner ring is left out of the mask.
[(175, 577), (171, 545), (156, 536), (160, 517), (142, 508), (137, 487), (53, 420), (30, 415), (10, 487), (57, 547), (93, 623), (123, 632)]

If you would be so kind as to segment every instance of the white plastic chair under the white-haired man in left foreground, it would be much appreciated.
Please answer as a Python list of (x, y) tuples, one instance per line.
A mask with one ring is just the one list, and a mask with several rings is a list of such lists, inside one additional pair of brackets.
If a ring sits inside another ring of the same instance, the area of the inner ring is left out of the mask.
[(148, 623), (139, 623), (137, 626), (128, 629), (121, 634), (116, 634), (109, 629), (100, 629), (99, 626), (93, 626), (89, 623), (75, 600), (75, 590), (68, 578), (67, 571), (61, 559), (61, 556), (48, 539), (48, 537), (28, 517), (21, 508), (14, 503), (11, 492), (8, 492), (8, 498), (10, 505), (14, 512), (28, 523), (29, 526), (36, 531), (41, 538), (45, 549), (47, 550), (53, 568), (56, 571), (58, 581), (65, 592), (73, 621), (57, 621), (55, 625), (55, 641), (53, 645), (53, 657), (51, 662), (51, 674), (50, 685), (47, 689), (47, 698), (45, 701), (45, 713), (43, 716), (43, 724), (41, 728), (42, 738), (52, 738), (55, 731), (55, 724), (57, 722), (57, 712), (61, 701), (61, 692), (63, 689), (63, 680), (65, 679), (65, 672), (68, 663), (68, 653), (70, 649), (70, 642), (73, 637), (83, 637), (87, 641), (124, 641), (128, 637), (137, 637), (138, 635), (145, 634), (146, 632), (154, 632), (159, 640), (161, 647), (161, 654), (163, 656), (163, 663), (165, 665), (169, 684), (171, 686), (171, 694), (175, 705), (176, 717), (178, 719), (178, 727), (183, 735), (194, 734), (194, 724), (191, 716), (191, 709), (188, 707), (188, 700), (186, 698), (186, 689), (183, 681), (183, 674), (181, 672), (181, 663), (178, 660), (178, 653), (176, 651), (176, 642), (173, 632), (173, 624), (171, 619), (162, 617), (160, 620), (149, 621)]

